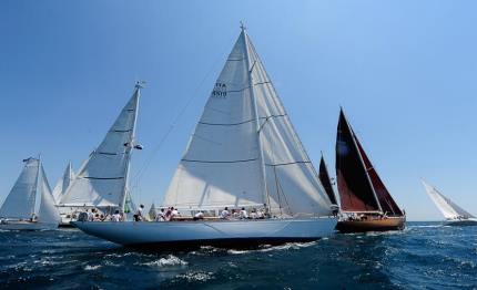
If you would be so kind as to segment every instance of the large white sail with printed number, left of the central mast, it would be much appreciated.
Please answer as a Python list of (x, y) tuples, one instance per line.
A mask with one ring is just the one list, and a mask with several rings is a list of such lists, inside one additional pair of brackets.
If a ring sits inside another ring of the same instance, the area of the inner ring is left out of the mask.
[(164, 206), (263, 204), (245, 34), (236, 41), (164, 198)]

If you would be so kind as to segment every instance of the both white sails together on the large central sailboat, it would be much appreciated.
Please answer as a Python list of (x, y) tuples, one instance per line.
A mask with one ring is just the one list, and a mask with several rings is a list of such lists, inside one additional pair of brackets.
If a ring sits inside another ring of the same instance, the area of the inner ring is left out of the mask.
[(328, 215), (329, 200), (250, 37), (242, 32), (215, 82), (164, 206), (264, 206)]

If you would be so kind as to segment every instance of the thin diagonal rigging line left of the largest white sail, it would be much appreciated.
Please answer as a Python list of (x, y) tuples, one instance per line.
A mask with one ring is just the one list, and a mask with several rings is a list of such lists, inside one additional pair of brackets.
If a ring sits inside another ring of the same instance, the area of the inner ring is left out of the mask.
[[(227, 44), (227, 46), (229, 46), (229, 44)], [(225, 50), (226, 50), (226, 48), (222, 48), (222, 52), (223, 52), (222, 55), (224, 54)], [(225, 51), (225, 53), (226, 53), (226, 51)], [(197, 86), (195, 86), (195, 89), (193, 90), (193, 93), (191, 94), (191, 97), (189, 97), (189, 100), (186, 101), (185, 105), (182, 107), (182, 110), (179, 112), (179, 114), (174, 117), (174, 120), (172, 121), (171, 125), (169, 126), (169, 128), (166, 130), (166, 132), (164, 133), (164, 135), (159, 141), (158, 145), (151, 152), (151, 154), (150, 154), (149, 158), (146, 159), (146, 162), (143, 164), (143, 166), (139, 169), (139, 172), (134, 176), (133, 179), (135, 182), (134, 182), (134, 185), (131, 187), (131, 189), (138, 187), (138, 185), (139, 185), (141, 178), (143, 177), (144, 173), (151, 166), (153, 157), (156, 155), (156, 153), (159, 152), (159, 149), (162, 147), (162, 145), (169, 138), (169, 136), (171, 135), (172, 131), (177, 125), (180, 118), (184, 115), (185, 111), (192, 104), (192, 101), (194, 101), (196, 99), (196, 96), (199, 95), (199, 94), (196, 94), (196, 92), (199, 91), (199, 89), (202, 87), (202, 85), (204, 84), (204, 82), (209, 79), (209, 76), (211, 75), (212, 71), (215, 69), (215, 66), (217, 65), (217, 63), (221, 60), (222, 60), (222, 58), (217, 58), (215, 60), (215, 62), (211, 65), (211, 68), (209, 69), (209, 71), (205, 73), (204, 77), (201, 80), (201, 82), (197, 84)]]

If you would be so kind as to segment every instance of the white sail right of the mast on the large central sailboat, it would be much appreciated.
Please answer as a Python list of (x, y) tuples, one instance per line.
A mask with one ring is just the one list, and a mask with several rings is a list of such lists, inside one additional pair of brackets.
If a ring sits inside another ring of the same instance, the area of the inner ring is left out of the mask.
[(331, 201), (319, 177), (255, 48), (250, 40), (247, 43), (266, 168), (266, 201), (275, 214), (329, 215)]

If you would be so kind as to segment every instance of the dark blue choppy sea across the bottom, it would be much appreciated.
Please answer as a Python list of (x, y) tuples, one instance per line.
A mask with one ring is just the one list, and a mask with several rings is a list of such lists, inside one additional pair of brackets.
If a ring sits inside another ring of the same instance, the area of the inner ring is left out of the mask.
[(75, 229), (0, 232), (0, 288), (477, 289), (477, 227), (408, 222), (254, 250), (141, 252)]

